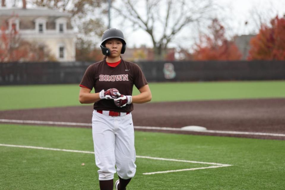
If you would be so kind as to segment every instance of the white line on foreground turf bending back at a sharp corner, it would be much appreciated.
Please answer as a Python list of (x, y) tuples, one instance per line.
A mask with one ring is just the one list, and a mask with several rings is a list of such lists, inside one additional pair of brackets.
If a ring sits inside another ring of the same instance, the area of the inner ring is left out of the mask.
[[(68, 149), (60, 149), (60, 148), (46, 148), (46, 147), (35, 147), (35, 146), (24, 146), (24, 145), (8, 145), (8, 144), (0, 144), (0, 146), (94, 154), (94, 152), (91, 152), (91, 151), (68, 150)], [(137, 158), (153, 159), (153, 160), (177, 161), (177, 162), (188, 162), (188, 163), (215, 165), (215, 166), (200, 167), (200, 168), (189, 168), (189, 169), (177, 169), (177, 170), (168, 170), (168, 171), (160, 171), (160, 172), (149, 172), (149, 173), (143, 173), (144, 175), (152, 175), (152, 174), (159, 174), (159, 173), (170, 173), (170, 172), (182, 172), (182, 171), (190, 171), (190, 170), (197, 170), (197, 169), (210, 169), (210, 168), (232, 166), (230, 164), (220, 164), (220, 163), (213, 163), (213, 162), (200, 162), (200, 161), (190, 161), (190, 160), (178, 160), (178, 159), (169, 159), (169, 158), (156, 158), (156, 157), (150, 157), (150, 156), (136, 156), (136, 157)]]

